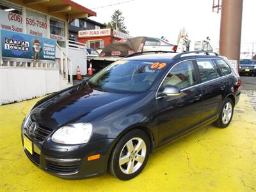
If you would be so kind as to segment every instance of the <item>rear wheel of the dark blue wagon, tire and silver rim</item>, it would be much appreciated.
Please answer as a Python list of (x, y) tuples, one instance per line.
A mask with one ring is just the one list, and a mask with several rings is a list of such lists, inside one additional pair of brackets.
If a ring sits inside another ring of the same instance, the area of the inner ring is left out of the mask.
[(219, 115), (218, 120), (213, 123), (216, 127), (226, 128), (230, 124), (234, 113), (234, 102), (232, 99), (227, 98), (223, 102), (223, 106), (221, 108), (221, 113)]

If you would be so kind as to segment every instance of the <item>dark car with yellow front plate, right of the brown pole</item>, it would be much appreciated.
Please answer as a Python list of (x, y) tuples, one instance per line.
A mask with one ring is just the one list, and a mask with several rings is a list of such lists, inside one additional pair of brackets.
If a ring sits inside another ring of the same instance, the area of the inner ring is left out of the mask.
[(248, 74), (249, 76), (256, 76), (256, 65), (251, 59), (241, 59), (239, 67), (240, 75)]

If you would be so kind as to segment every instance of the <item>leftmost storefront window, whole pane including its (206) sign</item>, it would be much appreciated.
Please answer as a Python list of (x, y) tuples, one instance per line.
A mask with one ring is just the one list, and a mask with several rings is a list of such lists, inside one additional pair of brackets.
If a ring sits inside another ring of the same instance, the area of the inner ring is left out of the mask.
[(22, 8), (1, 2), (0, 15), (0, 29), (23, 32)]

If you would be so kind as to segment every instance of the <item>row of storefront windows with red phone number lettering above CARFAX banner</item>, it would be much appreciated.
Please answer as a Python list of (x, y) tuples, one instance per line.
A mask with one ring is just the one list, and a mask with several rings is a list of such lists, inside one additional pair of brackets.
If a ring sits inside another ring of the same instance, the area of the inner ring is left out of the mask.
[(21, 6), (0, 0), (0, 29), (52, 38), (57, 40), (61, 47), (66, 47), (65, 21), (52, 17), (47, 20), (47, 15), (44, 13), (29, 8), (25, 10), (26, 20), (23, 21)]

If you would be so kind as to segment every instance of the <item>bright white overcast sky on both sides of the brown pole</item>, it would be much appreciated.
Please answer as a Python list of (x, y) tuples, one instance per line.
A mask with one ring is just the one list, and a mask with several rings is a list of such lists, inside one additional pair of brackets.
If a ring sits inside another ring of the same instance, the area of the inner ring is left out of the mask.
[[(188, 31), (191, 39), (209, 36), (218, 46), (221, 13), (212, 12), (213, 0), (73, 0), (97, 12), (89, 19), (104, 23), (111, 21), (117, 9), (125, 17), (125, 26), (131, 36), (166, 37), (177, 44), (181, 28)], [(125, 1), (129, 1), (126, 2)], [(216, 0), (218, 1), (218, 0)], [(229, 0), (236, 1), (236, 0)], [(116, 4), (120, 3), (120, 4)], [(111, 4), (116, 4), (109, 6)], [(99, 8), (101, 6), (106, 6)], [(256, 51), (256, 0), (244, 0), (241, 36), (241, 51)]]

